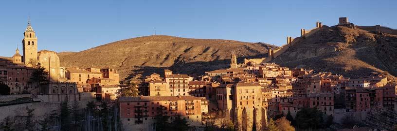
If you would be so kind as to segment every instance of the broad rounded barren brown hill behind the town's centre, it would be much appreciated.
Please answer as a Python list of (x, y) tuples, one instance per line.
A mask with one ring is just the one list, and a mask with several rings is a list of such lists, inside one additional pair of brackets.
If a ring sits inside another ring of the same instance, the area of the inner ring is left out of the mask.
[(162, 72), (200, 75), (204, 71), (228, 68), (230, 54), (261, 58), (274, 45), (232, 40), (188, 39), (172, 36), (145, 36), (101, 45), (81, 52), (59, 53), (62, 67), (111, 67), (120, 78), (136, 73)]

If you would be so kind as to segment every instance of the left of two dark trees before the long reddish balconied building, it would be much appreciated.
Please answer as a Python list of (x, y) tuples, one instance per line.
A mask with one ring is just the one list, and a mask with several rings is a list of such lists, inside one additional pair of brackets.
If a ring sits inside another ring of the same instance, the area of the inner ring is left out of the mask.
[(166, 116), (167, 107), (160, 105), (157, 108), (157, 116), (156, 116), (156, 131), (172, 131), (170, 129), (170, 123), (168, 122), (169, 116)]

